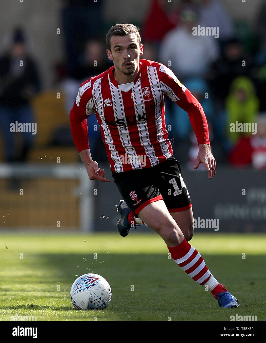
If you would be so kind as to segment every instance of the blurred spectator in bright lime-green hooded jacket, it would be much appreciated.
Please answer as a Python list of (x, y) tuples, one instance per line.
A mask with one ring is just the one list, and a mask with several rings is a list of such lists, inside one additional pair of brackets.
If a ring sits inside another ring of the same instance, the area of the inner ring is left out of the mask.
[(250, 132), (231, 132), (230, 124), (254, 123), (259, 111), (259, 100), (255, 93), (252, 81), (239, 76), (234, 79), (230, 86), (230, 93), (226, 99), (227, 133), (229, 144), (234, 145), (241, 136), (250, 135)]

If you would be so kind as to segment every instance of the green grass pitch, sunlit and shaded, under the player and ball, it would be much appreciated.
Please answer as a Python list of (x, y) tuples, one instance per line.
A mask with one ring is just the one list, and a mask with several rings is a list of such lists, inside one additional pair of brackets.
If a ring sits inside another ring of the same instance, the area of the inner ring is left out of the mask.
[[(265, 320), (266, 235), (198, 234), (190, 243), (240, 308), (219, 308), (210, 292), (167, 258), (156, 234), (1, 233), (0, 320), (18, 314), (37, 320), (230, 321), (235, 313)], [(73, 281), (89, 272), (111, 285), (112, 301), (103, 311), (79, 311), (71, 304)]]

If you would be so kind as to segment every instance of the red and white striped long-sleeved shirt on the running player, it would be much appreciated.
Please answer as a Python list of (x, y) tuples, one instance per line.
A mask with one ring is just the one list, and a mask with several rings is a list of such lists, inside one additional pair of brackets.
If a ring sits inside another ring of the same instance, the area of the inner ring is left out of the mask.
[(140, 59), (128, 92), (119, 90), (113, 72), (114, 66), (80, 86), (69, 116), (79, 152), (89, 149), (86, 118), (94, 112), (112, 171), (147, 168), (165, 161), (173, 150), (165, 124), (164, 95), (187, 111), (198, 144), (210, 144), (203, 108), (169, 68)]

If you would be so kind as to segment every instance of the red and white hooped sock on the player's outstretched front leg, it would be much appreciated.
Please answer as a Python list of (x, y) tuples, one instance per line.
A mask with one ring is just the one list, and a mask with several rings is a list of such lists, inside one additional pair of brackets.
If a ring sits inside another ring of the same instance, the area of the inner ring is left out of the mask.
[[(208, 286), (208, 291), (217, 299), (217, 294), (226, 292), (227, 289), (218, 283), (212, 276), (200, 253), (186, 239), (176, 247), (167, 247), (172, 259), (179, 265), (194, 281), (203, 286)], [(220, 286), (219, 286), (220, 285)], [(221, 287), (222, 286), (222, 287)], [(218, 292), (218, 293), (217, 293)]]

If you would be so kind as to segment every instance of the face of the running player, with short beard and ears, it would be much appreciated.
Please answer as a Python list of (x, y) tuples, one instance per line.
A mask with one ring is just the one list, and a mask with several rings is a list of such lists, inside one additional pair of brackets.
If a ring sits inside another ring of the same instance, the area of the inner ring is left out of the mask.
[(132, 75), (139, 66), (139, 57), (143, 54), (143, 45), (139, 46), (136, 34), (111, 37), (111, 51), (108, 58), (125, 75)]

